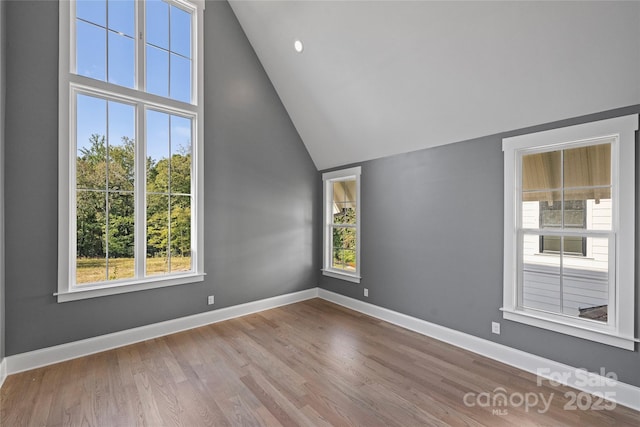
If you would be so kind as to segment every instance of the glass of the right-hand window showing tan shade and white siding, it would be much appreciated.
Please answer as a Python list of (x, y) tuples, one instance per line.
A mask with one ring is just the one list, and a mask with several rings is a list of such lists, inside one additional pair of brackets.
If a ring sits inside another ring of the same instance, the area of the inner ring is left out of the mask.
[[(560, 178), (560, 179), (559, 179)], [(608, 322), (611, 143), (522, 156), (520, 304)]]

